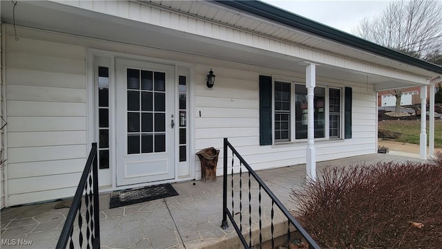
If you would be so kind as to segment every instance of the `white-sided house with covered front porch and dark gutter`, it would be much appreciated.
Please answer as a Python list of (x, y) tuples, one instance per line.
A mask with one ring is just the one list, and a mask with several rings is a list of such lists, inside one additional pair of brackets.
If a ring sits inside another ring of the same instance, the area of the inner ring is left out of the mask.
[(73, 196), (95, 141), (104, 192), (198, 179), (195, 152), (222, 138), (314, 177), (376, 152), (376, 92), (442, 74), (260, 1), (0, 7), (1, 207)]

